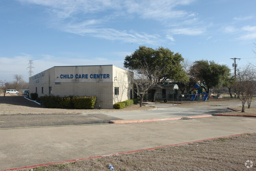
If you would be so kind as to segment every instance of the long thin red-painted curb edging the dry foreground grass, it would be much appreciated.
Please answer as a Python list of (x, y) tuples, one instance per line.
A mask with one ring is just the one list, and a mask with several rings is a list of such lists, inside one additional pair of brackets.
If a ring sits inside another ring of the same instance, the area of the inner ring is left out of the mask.
[[(256, 133), (256, 132), (247, 132), (247, 133), (242, 133), (242, 134), (221, 136), (221, 137), (217, 137), (217, 138), (227, 138), (227, 137), (230, 137), (230, 136), (239, 136), (239, 135), (253, 134), (253, 133)], [(1, 171), (13, 171), (13, 170), (19, 170), (19, 169), (29, 169), (29, 168), (33, 168), (33, 167), (41, 167), (41, 166), (51, 165), (51, 164), (69, 163), (69, 162), (75, 162), (75, 161), (80, 161), (80, 160), (88, 160), (88, 159), (92, 159), (92, 158), (101, 158), (101, 157), (106, 157), (106, 156), (115, 156), (115, 155), (118, 155), (118, 154), (128, 154), (128, 153), (134, 153), (134, 152), (138, 152), (138, 151), (160, 149), (160, 148), (164, 148), (164, 147), (172, 147), (172, 146), (184, 145), (184, 144), (188, 144), (188, 143), (202, 142), (202, 141), (206, 141), (206, 140), (214, 140), (214, 139), (217, 139), (217, 138), (209, 138), (209, 139), (205, 139), (205, 140), (184, 142), (184, 143), (178, 143), (178, 144), (173, 144), (173, 145), (165, 145), (165, 146), (162, 146), (162, 147), (154, 147), (154, 148), (149, 148), (149, 149), (141, 149), (141, 150), (128, 151), (128, 152), (123, 152), (123, 153), (113, 153), (113, 154), (107, 154), (107, 155), (102, 155), (102, 156), (93, 156), (93, 157), (88, 157), (88, 158), (80, 158), (80, 159), (74, 159), (74, 160), (67, 160), (67, 161), (63, 161), (63, 162), (53, 162), (53, 163), (47, 163), (47, 164), (32, 165), (32, 166), (27, 166), (27, 167), (19, 167), (19, 168), (15, 168), (15, 169), (7, 169), (7, 170), (1, 170)]]

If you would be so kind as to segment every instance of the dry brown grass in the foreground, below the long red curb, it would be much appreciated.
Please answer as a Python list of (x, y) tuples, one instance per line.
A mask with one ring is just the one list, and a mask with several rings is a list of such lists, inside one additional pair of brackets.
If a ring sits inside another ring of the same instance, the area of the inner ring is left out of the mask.
[[(256, 169), (256, 134), (206, 140), (129, 154), (35, 167), (33, 171), (250, 170)], [(252, 163), (252, 164), (251, 164)], [(26, 171), (32, 169), (23, 169)]]

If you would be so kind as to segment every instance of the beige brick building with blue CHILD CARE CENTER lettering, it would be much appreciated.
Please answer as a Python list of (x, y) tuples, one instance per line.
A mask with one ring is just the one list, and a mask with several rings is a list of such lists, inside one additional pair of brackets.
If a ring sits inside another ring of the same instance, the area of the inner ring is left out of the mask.
[(30, 77), (30, 93), (38, 97), (96, 96), (95, 108), (132, 99), (133, 73), (113, 65), (54, 66)]

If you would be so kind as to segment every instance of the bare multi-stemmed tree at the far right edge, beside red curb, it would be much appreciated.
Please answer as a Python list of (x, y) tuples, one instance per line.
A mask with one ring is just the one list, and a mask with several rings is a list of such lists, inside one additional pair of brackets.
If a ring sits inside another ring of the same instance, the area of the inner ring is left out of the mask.
[(236, 82), (234, 83), (235, 91), (242, 102), (242, 111), (245, 112), (245, 103), (248, 108), (252, 102), (253, 94), (256, 88), (256, 70), (251, 64), (237, 71)]

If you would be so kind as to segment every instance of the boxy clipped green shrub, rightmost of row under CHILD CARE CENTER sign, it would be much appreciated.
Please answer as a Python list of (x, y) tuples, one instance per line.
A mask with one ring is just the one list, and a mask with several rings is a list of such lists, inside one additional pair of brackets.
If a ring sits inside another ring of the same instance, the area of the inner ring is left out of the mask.
[(96, 96), (92, 97), (73, 97), (72, 103), (75, 108), (79, 109), (91, 109), (94, 108), (96, 103)]

